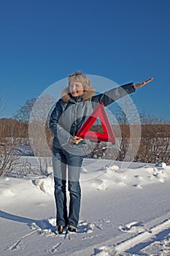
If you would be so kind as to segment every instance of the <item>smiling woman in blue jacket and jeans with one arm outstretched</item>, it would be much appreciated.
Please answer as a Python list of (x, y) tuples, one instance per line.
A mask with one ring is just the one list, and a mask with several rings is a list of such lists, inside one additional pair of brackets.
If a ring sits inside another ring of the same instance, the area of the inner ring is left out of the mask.
[[(69, 75), (69, 86), (62, 91), (62, 97), (50, 116), (50, 129), (53, 132), (53, 172), (55, 181), (55, 203), (57, 208), (57, 233), (65, 227), (76, 232), (80, 214), (80, 169), (82, 148), (86, 140), (76, 136), (85, 120), (98, 102), (107, 106), (117, 99), (131, 94), (153, 78), (142, 83), (128, 83), (111, 89), (104, 94), (95, 94), (90, 80), (82, 72)], [(66, 170), (68, 168), (69, 212), (66, 206)]]

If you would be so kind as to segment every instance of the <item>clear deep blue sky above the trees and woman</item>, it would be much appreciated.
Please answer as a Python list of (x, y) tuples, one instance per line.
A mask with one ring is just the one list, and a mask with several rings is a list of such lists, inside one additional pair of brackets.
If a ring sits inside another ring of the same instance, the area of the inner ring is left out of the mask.
[(169, 0), (0, 0), (0, 117), (82, 70), (118, 84), (153, 76), (134, 102), (170, 119), (169, 12)]

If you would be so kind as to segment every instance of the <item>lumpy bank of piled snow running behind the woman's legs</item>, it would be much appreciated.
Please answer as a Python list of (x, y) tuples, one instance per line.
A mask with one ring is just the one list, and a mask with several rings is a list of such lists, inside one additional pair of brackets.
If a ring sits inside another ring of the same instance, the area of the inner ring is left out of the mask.
[[(104, 160), (103, 160), (104, 161)], [(139, 164), (138, 164), (139, 165)], [(110, 163), (102, 168), (102, 172), (96, 175), (96, 170), (88, 171), (87, 167), (82, 167), (81, 175), (90, 180), (88, 187), (93, 187), (96, 190), (106, 190), (110, 187), (136, 187), (142, 189), (147, 184), (161, 182), (164, 183), (170, 179), (170, 166), (165, 163), (158, 163), (157, 165), (141, 164), (137, 168), (129, 167), (126, 170), (121, 170), (118, 165)], [(53, 168), (49, 167), (47, 176), (36, 178), (34, 184), (39, 187), (42, 192), (53, 195)], [(49, 174), (50, 173), (50, 174)], [(81, 178), (80, 178), (81, 180)], [(82, 178), (83, 180), (83, 178)]]

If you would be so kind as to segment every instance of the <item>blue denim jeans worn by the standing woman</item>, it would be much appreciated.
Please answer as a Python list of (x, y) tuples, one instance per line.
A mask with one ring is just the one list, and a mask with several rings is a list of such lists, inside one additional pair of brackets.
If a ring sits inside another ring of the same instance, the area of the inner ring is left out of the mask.
[[(80, 168), (82, 156), (69, 154), (61, 148), (53, 150), (53, 170), (55, 182), (55, 203), (57, 209), (57, 225), (77, 227), (80, 215)], [(68, 177), (66, 170), (68, 169)], [(69, 190), (69, 215), (67, 211), (66, 180)]]

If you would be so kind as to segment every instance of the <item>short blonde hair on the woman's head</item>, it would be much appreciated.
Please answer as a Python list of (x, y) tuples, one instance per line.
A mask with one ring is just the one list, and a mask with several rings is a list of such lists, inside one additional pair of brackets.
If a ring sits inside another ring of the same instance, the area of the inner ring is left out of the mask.
[(68, 79), (69, 79), (69, 86), (72, 81), (77, 81), (79, 83), (82, 83), (84, 90), (90, 89), (90, 85), (91, 85), (90, 79), (88, 78), (87, 75), (82, 74), (81, 71), (79, 72), (76, 71), (72, 73), (71, 75), (69, 75)]

